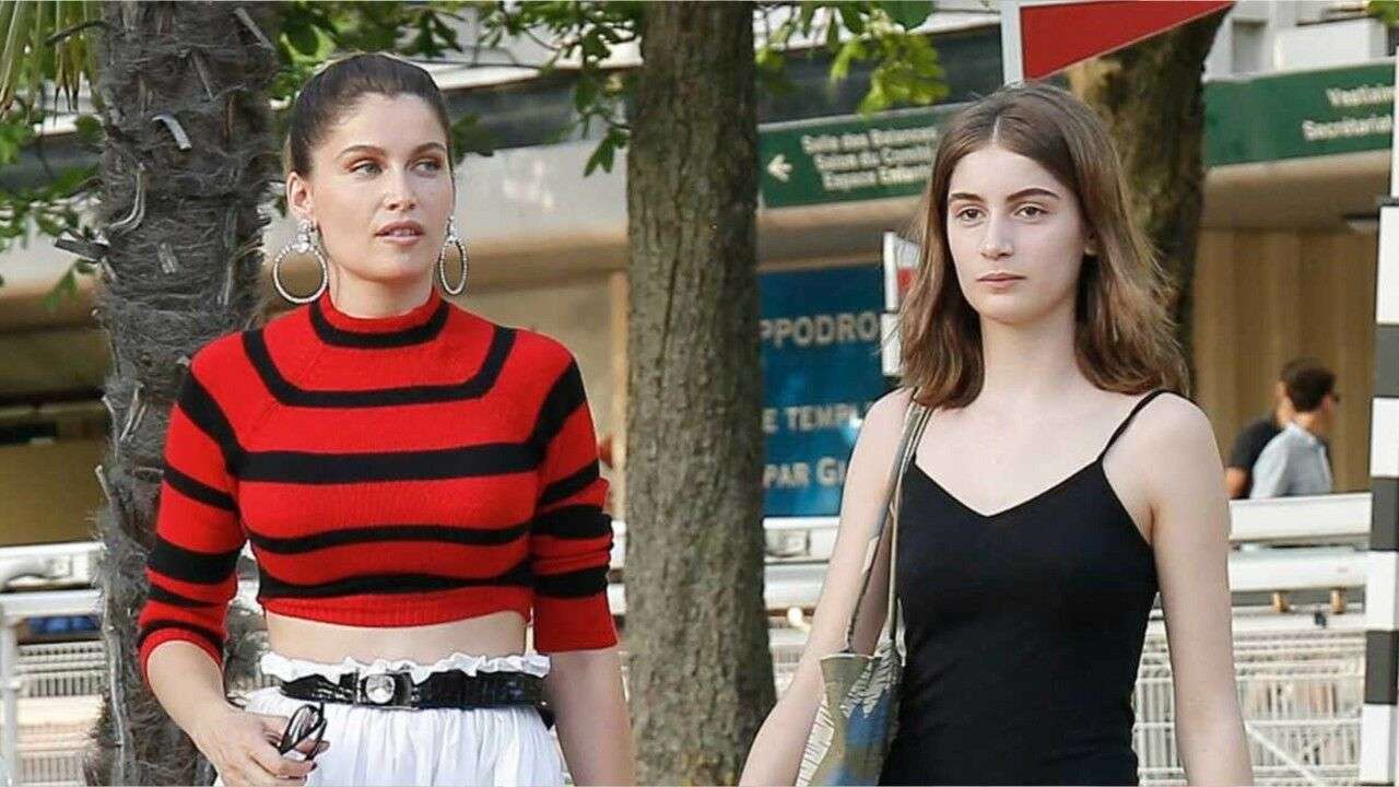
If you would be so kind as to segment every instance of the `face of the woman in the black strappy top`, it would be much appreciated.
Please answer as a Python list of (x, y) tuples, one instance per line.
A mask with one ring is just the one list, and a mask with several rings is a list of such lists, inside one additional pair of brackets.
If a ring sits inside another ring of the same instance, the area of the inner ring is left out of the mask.
[(944, 220), (963, 295), (982, 319), (1025, 325), (1073, 308), (1093, 239), (1079, 199), (1032, 158), (996, 144), (963, 157)]

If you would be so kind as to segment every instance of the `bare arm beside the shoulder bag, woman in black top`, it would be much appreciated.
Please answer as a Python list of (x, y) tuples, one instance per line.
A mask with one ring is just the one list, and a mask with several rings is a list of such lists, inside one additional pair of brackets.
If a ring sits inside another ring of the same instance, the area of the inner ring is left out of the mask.
[[(741, 784), (796, 781), (806, 738), (820, 706), (821, 658), (845, 646), (845, 629), (855, 612), (869, 539), (884, 514), (884, 490), (907, 408), (908, 391), (900, 389), (876, 402), (865, 417), (845, 478), (839, 532), (811, 620), (811, 634), (806, 650), (802, 651), (792, 685), (768, 714), (753, 742), (740, 777)], [(876, 564), (880, 566), (879, 562)], [(870, 583), (873, 587), (884, 587), (887, 577), (887, 569), (877, 569)], [(858, 650), (869, 651), (873, 646), (883, 625), (886, 604), (881, 592), (866, 597), (856, 641), (852, 643)]]

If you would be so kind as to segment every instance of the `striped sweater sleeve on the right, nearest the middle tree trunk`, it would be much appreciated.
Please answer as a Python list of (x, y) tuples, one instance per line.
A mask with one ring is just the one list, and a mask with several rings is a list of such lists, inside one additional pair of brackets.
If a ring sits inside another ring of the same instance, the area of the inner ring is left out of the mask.
[(607, 480), (599, 475), (597, 437), (572, 357), (540, 408), (534, 441), (543, 451), (530, 527), (534, 648), (614, 646), (617, 632), (607, 608), (613, 531), (602, 508)]

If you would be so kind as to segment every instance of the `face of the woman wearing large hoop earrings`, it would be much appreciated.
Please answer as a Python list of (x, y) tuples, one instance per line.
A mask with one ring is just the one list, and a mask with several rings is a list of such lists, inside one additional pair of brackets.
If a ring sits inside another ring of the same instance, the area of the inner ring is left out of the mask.
[(446, 137), (416, 95), (365, 94), (287, 176), (288, 204), (320, 230), (337, 276), (404, 284), (431, 276), (455, 183)]

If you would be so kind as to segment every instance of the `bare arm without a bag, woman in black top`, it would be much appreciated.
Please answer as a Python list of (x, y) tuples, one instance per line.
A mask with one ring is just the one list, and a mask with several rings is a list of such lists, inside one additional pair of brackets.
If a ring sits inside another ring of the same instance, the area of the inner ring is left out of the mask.
[(1132, 462), (1147, 479), (1181, 762), (1191, 784), (1252, 784), (1234, 679), (1230, 518), (1219, 450), (1195, 405), (1163, 398), (1150, 410)]

